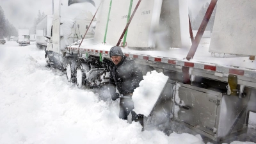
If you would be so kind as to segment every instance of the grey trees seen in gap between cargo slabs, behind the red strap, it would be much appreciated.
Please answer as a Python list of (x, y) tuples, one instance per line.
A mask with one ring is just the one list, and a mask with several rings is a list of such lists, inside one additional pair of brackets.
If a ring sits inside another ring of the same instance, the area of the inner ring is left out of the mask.
[[(199, 29), (200, 24), (202, 23), (202, 20), (204, 19), (204, 16), (205, 16), (205, 13), (206, 13), (208, 7), (209, 7), (209, 3), (206, 3), (202, 6), (198, 15), (196, 15), (196, 18), (192, 22), (192, 29), (194, 29), (194, 30)], [(207, 24), (207, 27), (205, 28), (205, 30), (207, 30), (207, 31), (212, 31), (214, 19), (215, 19), (216, 8), (217, 8), (217, 5), (215, 6), (215, 8), (212, 12), (211, 18)]]

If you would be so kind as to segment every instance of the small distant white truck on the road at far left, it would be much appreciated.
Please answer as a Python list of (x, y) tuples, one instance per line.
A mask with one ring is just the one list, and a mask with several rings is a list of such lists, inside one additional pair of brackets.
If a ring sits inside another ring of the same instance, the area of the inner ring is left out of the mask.
[(30, 31), (29, 29), (19, 29), (19, 46), (30, 44)]

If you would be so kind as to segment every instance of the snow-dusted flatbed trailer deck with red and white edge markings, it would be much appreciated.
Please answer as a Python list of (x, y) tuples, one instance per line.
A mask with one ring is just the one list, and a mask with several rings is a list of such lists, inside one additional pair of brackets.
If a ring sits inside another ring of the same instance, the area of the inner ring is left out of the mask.
[[(122, 50), (126, 56), (142, 61), (169, 63), (175, 65), (176, 68), (184, 66), (211, 70), (220, 73), (216, 73), (218, 76), (223, 76), (223, 74), (236, 74), (238, 76), (256, 78), (255, 61), (249, 60), (248, 56), (213, 54), (209, 52), (210, 42), (211, 38), (202, 39), (194, 58), (190, 61), (186, 60), (189, 49), (170, 48), (163, 51), (154, 49), (139, 51), (125, 47)], [(67, 49), (68, 51), (79, 50), (82, 54), (88, 52), (88, 54), (95, 56), (99, 56), (99, 53), (102, 53), (102, 56), (106, 57), (111, 47), (112, 45), (95, 44), (93, 38), (89, 38), (83, 41), (80, 48), (78, 48), (78, 45), (70, 45)]]

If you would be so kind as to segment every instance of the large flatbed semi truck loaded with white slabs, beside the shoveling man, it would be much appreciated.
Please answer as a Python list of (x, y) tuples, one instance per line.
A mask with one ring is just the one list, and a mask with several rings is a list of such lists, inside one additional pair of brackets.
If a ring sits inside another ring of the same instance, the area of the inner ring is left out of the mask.
[(47, 65), (64, 70), (78, 88), (99, 87), (108, 83), (109, 50), (123, 47), (144, 75), (156, 70), (169, 77), (150, 115), (161, 112), (156, 125), (171, 120), (214, 141), (246, 133), (256, 113), (256, 1), (219, 0), (211, 38), (201, 39), (216, 4), (195, 38), (182, 0), (102, 1), (94, 37), (74, 43), (71, 32), (63, 35), (70, 26), (65, 15), (56, 12)]

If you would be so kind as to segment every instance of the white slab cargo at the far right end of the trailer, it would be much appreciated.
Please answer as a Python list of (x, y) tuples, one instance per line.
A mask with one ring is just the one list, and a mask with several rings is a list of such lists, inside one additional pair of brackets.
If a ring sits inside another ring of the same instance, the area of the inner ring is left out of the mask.
[(209, 51), (256, 56), (256, 1), (218, 3)]

